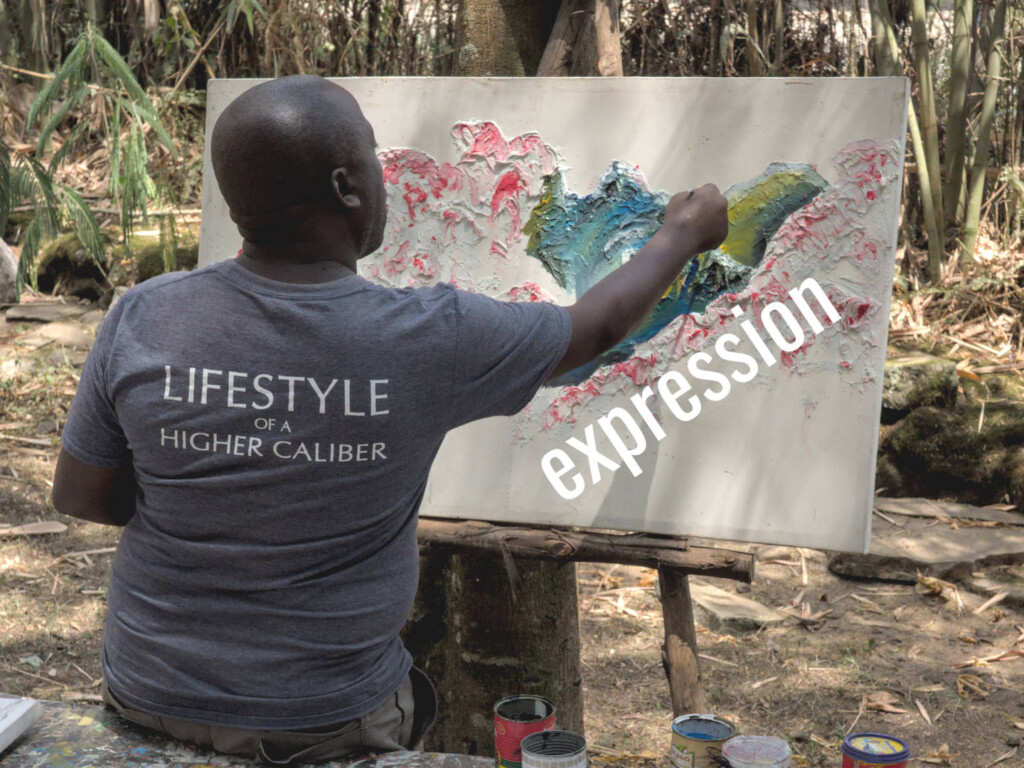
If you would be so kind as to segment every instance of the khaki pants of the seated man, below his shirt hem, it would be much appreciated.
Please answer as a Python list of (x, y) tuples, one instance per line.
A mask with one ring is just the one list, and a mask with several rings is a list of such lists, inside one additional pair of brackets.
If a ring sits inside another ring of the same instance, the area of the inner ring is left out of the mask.
[(394, 695), (377, 710), (345, 723), (297, 731), (247, 730), (150, 715), (122, 705), (106, 681), (103, 701), (125, 720), (178, 741), (273, 765), (311, 763), (396, 750), (422, 750), (423, 735), (437, 714), (430, 680), (415, 667)]

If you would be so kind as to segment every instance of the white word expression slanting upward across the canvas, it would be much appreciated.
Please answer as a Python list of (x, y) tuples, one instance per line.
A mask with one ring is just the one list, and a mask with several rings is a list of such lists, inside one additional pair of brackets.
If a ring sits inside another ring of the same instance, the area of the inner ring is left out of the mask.
[[(805, 296), (807, 293), (813, 296), (818, 306), (824, 311), (828, 319), (828, 325), (839, 322), (839, 311), (833, 306), (833, 303), (828, 300), (828, 296), (821, 289), (821, 286), (818, 285), (817, 281), (813, 278), (808, 278), (800, 285), (800, 288), (790, 291), (790, 299), (797, 305), (801, 315), (814, 334), (821, 333), (824, 327), (807, 301)], [(743, 314), (743, 310), (738, 306), (734, 306), (732, 313), (736, 317), (740, 317)], [(776, 317), (788, 329), (793, 338), (787, 339), (785, 334), (779, 330), (775, 321)], [(779, 301), (773, 301), (761, 311), (761, 325), (768, 331), (771, 340), (783, 352), (792, 352), (804, 344), (804, 329), (793, 311)], [(774, 366), (777, 362), (775, 355), (765, 343), (765, 340), (755, 330), (754, 324), (746, 319), (740, 323), (739, 327), (757, 350), (761, 361), (768, 368)], [(733, 347), (739, 342), (740, 338), (736, 334), (723, 334), (715, 342), (715, 352), (721, 359), (740, 366), (740, 368), (734, 369), (728, 376), (705, 368), (705, 366), (714, 359), (708, 352), (694, 352), (687, 359), (686, 371), (689, 373), (690, 378), (697, 381), (711, 382), (711, 386), (702, 392), (705, 398), (712, 401), (723, 400), (732, 391), (730, 378), (738, 384), (745, 384), (757, 376), (759, 370), (758, 358), (745, 352), (735, 351)], [(654, 396), (656, 390), (657, 396), (660, 397), (674, 417), (682, 422), (693, 421), (700, 415), (700, 397), (694, 393), (686, 399), (685, 403), (680, 402), (684, 395), (691, 391), (691, 389), (690, 382), (683, 374), (678, 371), (669, 371), (654, 382), (653, 387), (646, 386), (639, 394), (630, 397), (630, 402), (633, 403), (633, 408), (636, 409), (636, 412), (640, 415), (640, 419), (650, 430), (654, 439), (660, 441), (665, 438), (666, 432), (658, 423), (657, 417), (651, 412), (648, 400)], [(625, 408), (613, 408), (606, 416), (602, 416), (597, 420), (597, 426), (607, 436), (608, 442), (611, 443), (612, 449), (617, 454), (617, 458), (623, 464), (629, 467), (634, 477), (638, 476), (643, 470), (637, 463), (636, 457), (643, 454), (647, 449), (647, 438), (644, 430), (633, 417), (633, 414)], [(627, 437), (632, 441), (632, 445), (627, 443)], [(584, 430), (583, 440), (569, 437), (565, 443), (567, 446), (587, 457), (592, 484), (600, 482), (602, 467), (610, 472), (618, 469), (618, 462), (605, 456), (598, 450), (597, 436), (593, 424), (588, 425)], [(553, 449), (546, 453), (541, 459), (541, 467), (544, 469), (544, 475), (548, 478), (548, 482), (551, 483), (552, 487), (554, 487), (562, 499), (575, 499), (587, 487), (587, 480), (583, 474), (574, 471), (577, 465), (572, 457), (561, 449)]]

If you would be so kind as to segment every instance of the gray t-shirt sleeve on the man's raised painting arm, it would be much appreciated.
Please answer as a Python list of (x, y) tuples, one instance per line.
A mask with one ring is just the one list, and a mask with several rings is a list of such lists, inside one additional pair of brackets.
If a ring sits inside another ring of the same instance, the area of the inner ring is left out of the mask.
[(568, 312), (556, 304), (497, 301), (464, 291), (456, 297), (452, 426), (518, 413), (565, 354), (572, 330)]

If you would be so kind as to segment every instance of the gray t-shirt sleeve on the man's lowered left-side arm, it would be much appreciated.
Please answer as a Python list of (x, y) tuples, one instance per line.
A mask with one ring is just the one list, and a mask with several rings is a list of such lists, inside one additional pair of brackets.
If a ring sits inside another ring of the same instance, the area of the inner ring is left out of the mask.
[(108, 388), (108, 366), (114, 351), (122, 299), (106, 315), (85, 360), (68, 422), (60, 432), (63, 449), (79, 461), (94, 467), (116, 468), (129, 457), (128, 440), (118, 423)]

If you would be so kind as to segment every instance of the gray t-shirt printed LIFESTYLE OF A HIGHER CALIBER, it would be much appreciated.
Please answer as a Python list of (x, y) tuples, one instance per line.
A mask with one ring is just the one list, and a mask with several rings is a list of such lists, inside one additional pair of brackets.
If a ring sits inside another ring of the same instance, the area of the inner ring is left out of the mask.
[(552, 304), (233, 261), (129, 291), (61, 436), (138, 475), (108, 593), (112, 690), (239, 728), (382, 705), (411, 665), (416, 512), (444, 433), (521, 410), (569, 333)]

